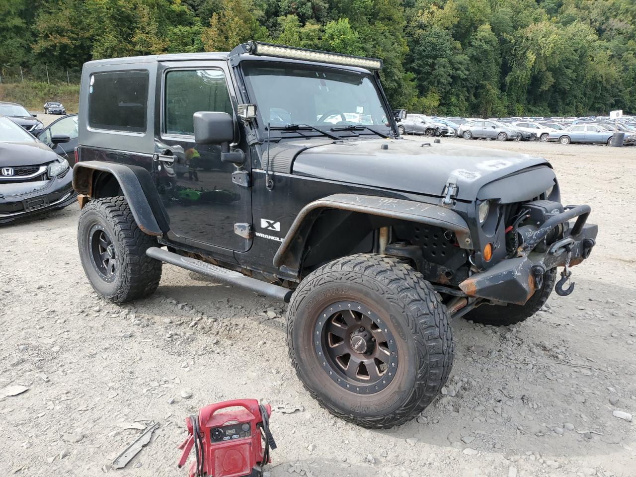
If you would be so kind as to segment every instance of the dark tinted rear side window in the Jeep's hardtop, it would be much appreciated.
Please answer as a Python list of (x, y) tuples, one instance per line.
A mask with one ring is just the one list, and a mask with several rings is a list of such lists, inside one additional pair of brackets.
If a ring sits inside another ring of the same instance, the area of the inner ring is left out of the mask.
[(90, 77), (88, 95), (90, 127), (146, 132), (148, 71), (95, 73)]

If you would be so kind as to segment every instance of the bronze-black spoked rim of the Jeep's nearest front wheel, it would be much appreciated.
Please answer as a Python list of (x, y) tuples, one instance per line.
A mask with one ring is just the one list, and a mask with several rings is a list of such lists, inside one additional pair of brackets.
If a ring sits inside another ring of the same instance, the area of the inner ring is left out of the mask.
[(397, 371), (399, 356), (391, 329), (357, 301), (338, 301), (322, 310), (314, 328), (314, 348), (329, 377), (356, 394), (382, 391)]

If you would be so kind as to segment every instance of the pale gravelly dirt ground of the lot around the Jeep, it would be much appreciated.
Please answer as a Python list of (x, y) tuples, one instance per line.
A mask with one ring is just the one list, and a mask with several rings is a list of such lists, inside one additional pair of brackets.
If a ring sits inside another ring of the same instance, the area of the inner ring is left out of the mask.
[[(79, 263), (76, 205), (1, 227), (0, 474), (185, 476), (184, 418), (256, 397), (287, 411), (271, 419), (274, 477), (635, 476), (636, 416), (612, 412), (636, 415), (636, 148), (472, 144), (548, 158), (564, 203), (593, 207), (598, 245), (576, 291), (527, 322), (455, 320), (445, 395), (389, 431), (308, 396), (279, 303), (164, 265), (153, 297), (112, 305)], [(15, 385), (28, 391), (1, 397)], [(111, 469), (150, 422), (150, 443)]]

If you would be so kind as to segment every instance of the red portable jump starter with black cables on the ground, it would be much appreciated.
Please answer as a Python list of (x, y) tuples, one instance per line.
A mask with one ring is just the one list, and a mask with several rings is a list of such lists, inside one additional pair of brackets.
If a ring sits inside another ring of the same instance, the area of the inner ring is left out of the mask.
[(189, 477), (261, 477), (263, 466), (270, 462), (270, 450), (276, 448), (269, 426), (271, 414), (272, 407), (256, 399), (201, 408), (198, 415), (186, 418), (189, 435), (179, 446), (183, 450), (179, 468), (194, 447), (196, 460)]

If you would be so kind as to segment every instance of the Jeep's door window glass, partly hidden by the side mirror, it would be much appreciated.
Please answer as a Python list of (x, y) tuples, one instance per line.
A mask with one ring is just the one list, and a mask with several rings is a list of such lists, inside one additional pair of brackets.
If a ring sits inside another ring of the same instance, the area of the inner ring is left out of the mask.
[(193, 114), (197, 111), (233, 114), (223, 71), (170, 71), (165, 77), (164, 132), (194, 135)]

